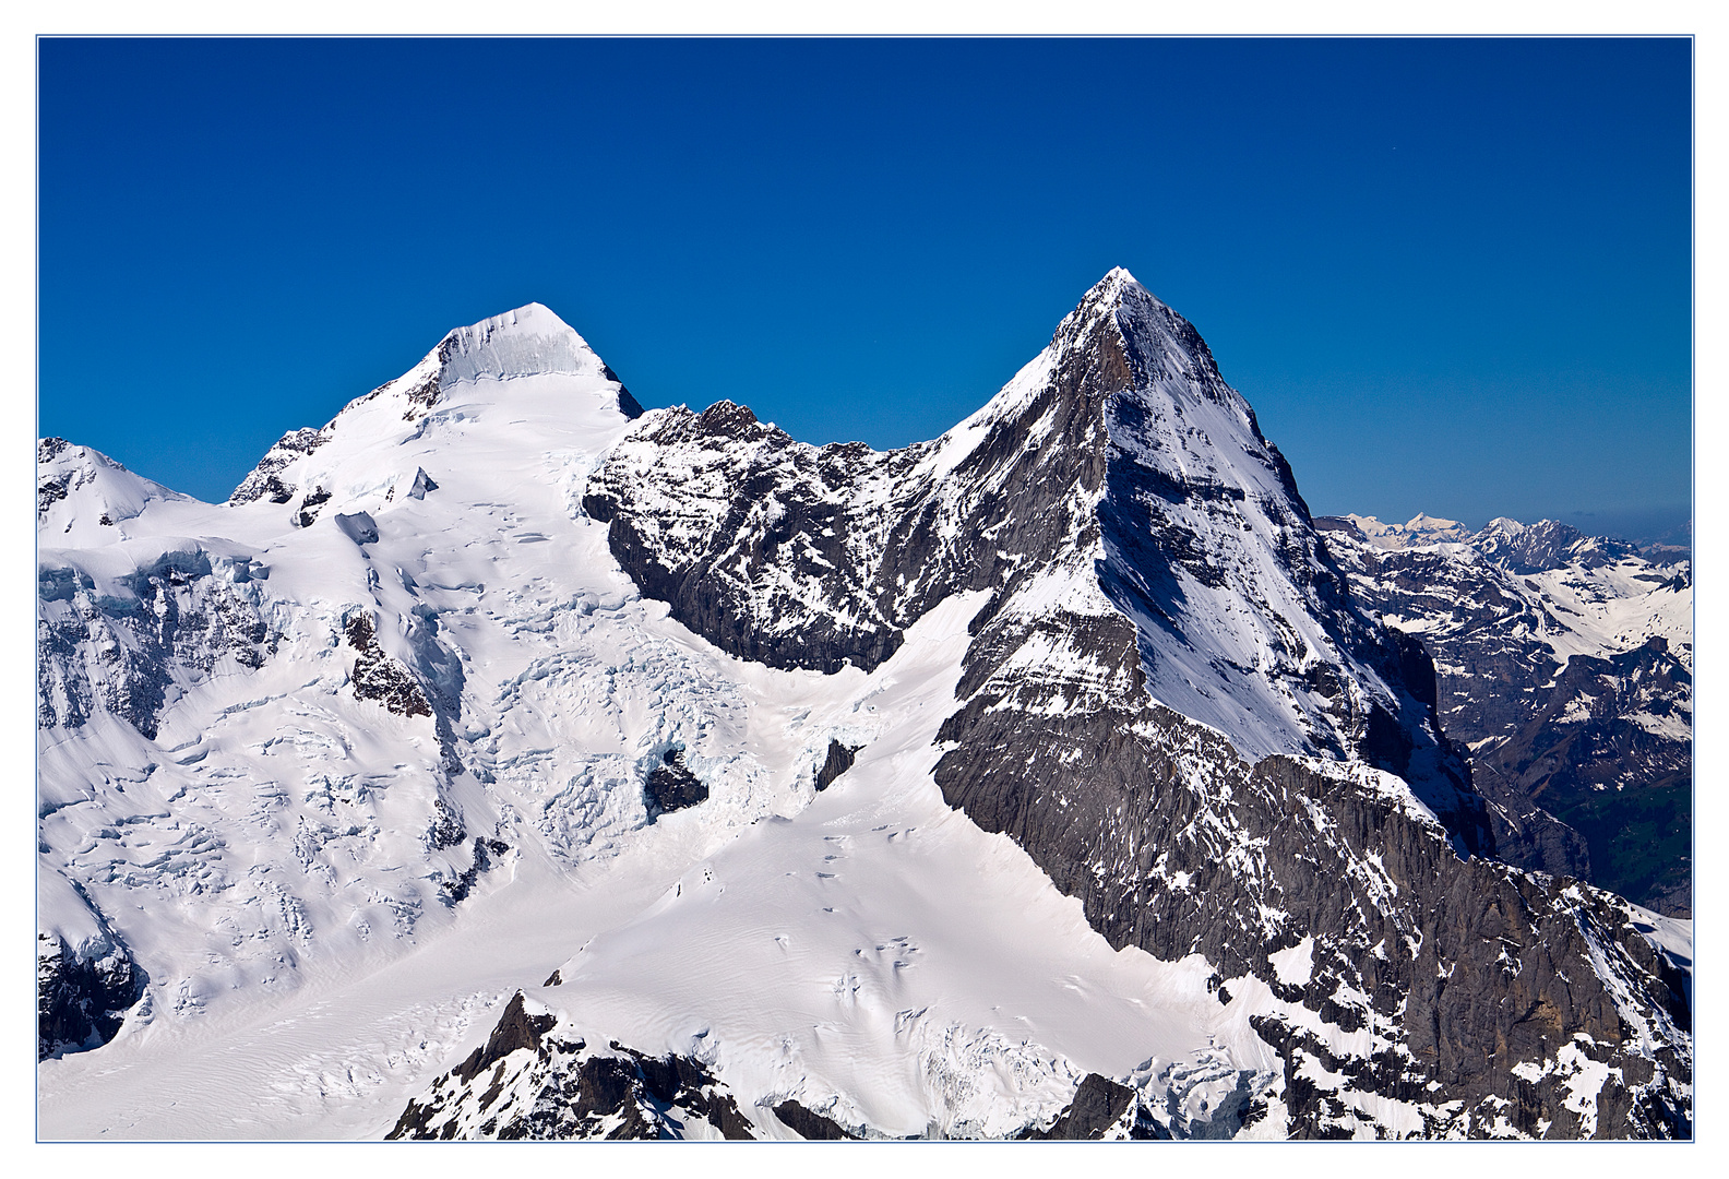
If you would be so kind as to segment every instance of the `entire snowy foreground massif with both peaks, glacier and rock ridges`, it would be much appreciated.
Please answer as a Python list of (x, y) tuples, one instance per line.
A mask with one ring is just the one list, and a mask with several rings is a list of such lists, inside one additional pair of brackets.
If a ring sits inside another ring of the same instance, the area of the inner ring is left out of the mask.
[(538, 304), (225, 505), (43, 448), (45, 1138), (1689, 1127), (1686, 930), (1461, 859), (1432, 669), (1126, 271), (887, 455)]

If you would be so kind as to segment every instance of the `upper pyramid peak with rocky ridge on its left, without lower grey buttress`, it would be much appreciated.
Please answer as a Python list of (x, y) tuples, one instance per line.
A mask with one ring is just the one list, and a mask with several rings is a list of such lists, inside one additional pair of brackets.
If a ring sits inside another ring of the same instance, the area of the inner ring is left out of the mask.
[(1255, 757), (1445, 761), (1421, 652), (1352, 605), (1248, 403), (1126, 270), (941, 439), (816, 448), (664, 410), (584, 507), (643, 593), (743, 659), (870, 669), (932, 605), (980, 591), (963, 697), (1150, 697)]

